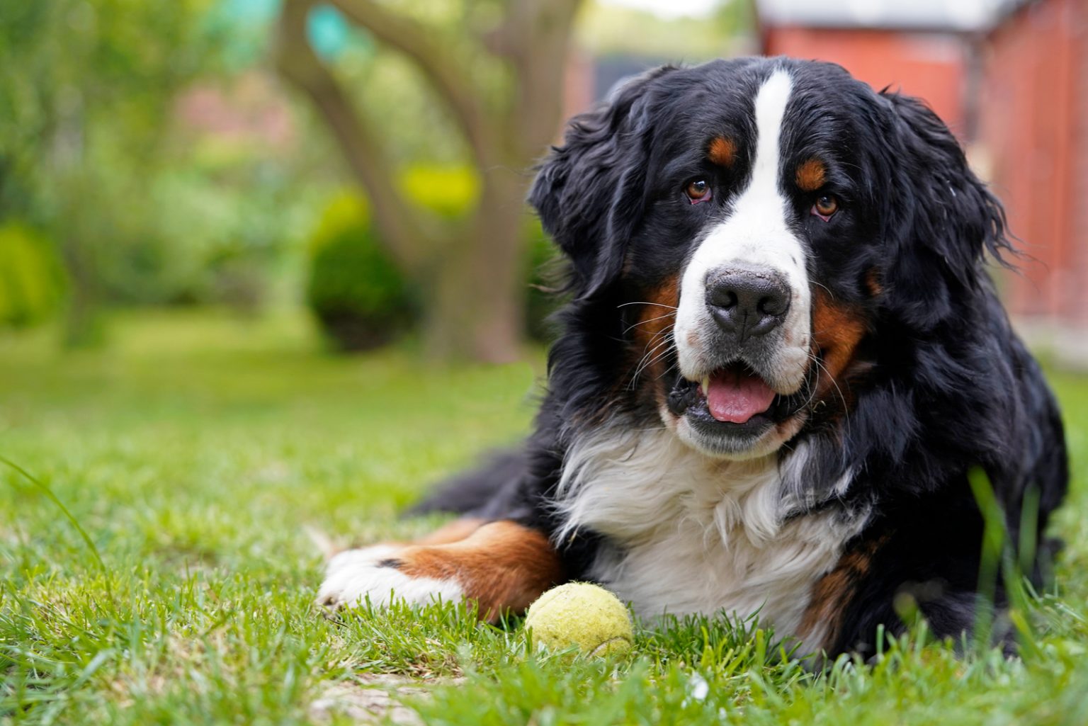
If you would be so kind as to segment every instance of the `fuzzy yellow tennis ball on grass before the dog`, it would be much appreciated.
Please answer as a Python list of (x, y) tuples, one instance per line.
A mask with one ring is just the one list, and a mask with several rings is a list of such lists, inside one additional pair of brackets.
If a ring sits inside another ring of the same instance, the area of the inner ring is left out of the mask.
[(590, 655), (618, 655), (631, 650), (631, 616), (616, 595), (589, 582), (552, 588), (526, 615), (533, 641), (552, 649), (578, 645)]

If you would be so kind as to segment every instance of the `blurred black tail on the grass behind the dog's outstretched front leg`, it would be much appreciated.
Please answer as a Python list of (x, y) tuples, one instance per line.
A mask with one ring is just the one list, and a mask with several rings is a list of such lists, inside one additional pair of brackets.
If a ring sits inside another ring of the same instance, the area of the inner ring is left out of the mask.
[(516, 496), (518, 483), (529, 466), (527, 447), (500, 450), (489, 454), (482, 466), (441, 482), (433, 493), (404, 514), (415, 517), (430, 512), (492, 518)]

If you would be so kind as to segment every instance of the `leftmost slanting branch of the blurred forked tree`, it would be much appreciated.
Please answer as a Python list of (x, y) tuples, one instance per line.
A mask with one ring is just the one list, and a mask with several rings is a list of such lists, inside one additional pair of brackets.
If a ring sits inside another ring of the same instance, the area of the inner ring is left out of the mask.
[(324, 116), (353, 174), (370, 197), (374, 222), (397, 262), (417, 270), (432, 241), (411, 207), (396, 188), (396, 172), (380, 135), (318, 59), (306, 37), (306, 19), (314, 0), (285, 0), (280, 13), (276, 66), (306, 94)]

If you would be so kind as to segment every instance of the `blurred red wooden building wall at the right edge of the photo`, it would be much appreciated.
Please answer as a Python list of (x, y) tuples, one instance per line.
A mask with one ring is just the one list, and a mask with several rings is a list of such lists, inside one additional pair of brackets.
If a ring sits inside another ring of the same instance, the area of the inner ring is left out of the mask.
[(987, 39), (980, 140), (1013, 233), (1021, 318), (1088, 325), (1088, 2), (1039, 0)]

